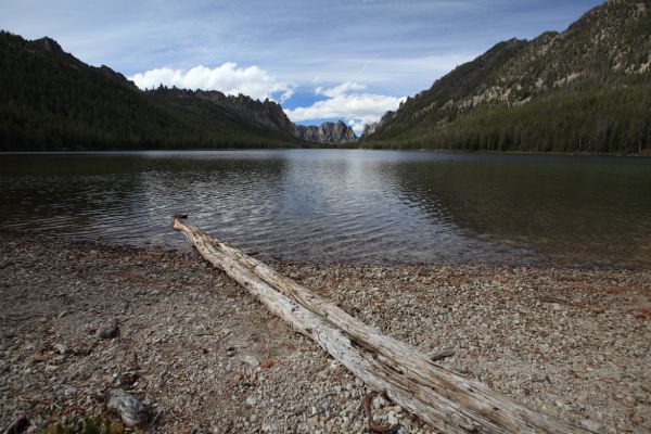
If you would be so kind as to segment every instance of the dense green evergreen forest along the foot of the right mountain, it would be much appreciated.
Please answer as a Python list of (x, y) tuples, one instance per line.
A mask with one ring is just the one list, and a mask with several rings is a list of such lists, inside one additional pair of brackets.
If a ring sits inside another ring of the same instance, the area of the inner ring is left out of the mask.
[(366, 148), (639, 153), (651, 150), (651, 82), (564, 89), (522, 105), (484, 104), (444, 125), (403, 126)]

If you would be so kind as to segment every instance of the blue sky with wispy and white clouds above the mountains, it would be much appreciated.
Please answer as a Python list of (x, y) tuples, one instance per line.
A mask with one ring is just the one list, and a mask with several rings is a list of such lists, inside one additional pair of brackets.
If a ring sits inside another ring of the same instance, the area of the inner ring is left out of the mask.
[(141, 88), (282, 103), (301, 124), (360, 131), (512, 37), (563, 30), (598, 0), (0, 0), (0, 28), (50, 36)]

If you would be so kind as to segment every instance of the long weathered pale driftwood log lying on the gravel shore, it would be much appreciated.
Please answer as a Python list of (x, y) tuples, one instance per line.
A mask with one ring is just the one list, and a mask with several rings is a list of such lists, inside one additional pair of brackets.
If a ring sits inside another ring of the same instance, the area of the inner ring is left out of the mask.
[(199, 254), (339, 362), (443, 433), (589, 433), (532, 411), (365, 324), (243, 251), (175, 218)]

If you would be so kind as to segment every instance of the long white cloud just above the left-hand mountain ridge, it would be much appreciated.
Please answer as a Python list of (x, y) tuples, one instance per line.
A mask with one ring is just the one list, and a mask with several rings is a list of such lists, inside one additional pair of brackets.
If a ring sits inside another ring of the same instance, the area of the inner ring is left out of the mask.
[(227, 62), (215, 68), (203, 65), (191, 69), (167, 67), (138, 73), (129, 77), (141, 89), (176, 86), (181, 89), (219, 90), (226, 94), (245, 94), (254, 99), (278, 99), (284, 102), (294, 94), (294, 85), (277, 80), (276, 77), (257, 66), (238, 67)]

